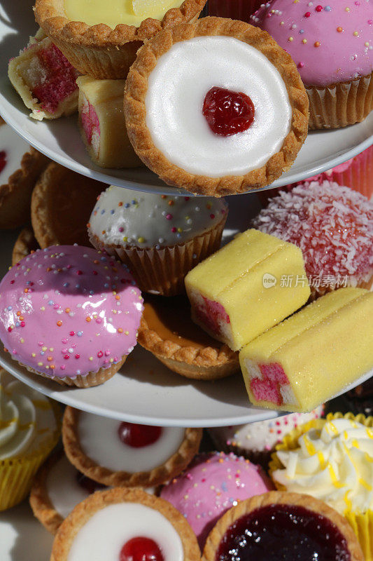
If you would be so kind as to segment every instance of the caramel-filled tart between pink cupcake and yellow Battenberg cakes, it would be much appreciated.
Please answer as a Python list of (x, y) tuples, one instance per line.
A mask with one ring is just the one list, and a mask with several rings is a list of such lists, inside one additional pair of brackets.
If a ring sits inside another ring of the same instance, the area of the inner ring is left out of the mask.
[(187, 378), (214, 380), (239, 370), (238, 353), (192, 321), (184, 296), (146, 295), (137, 342)]

